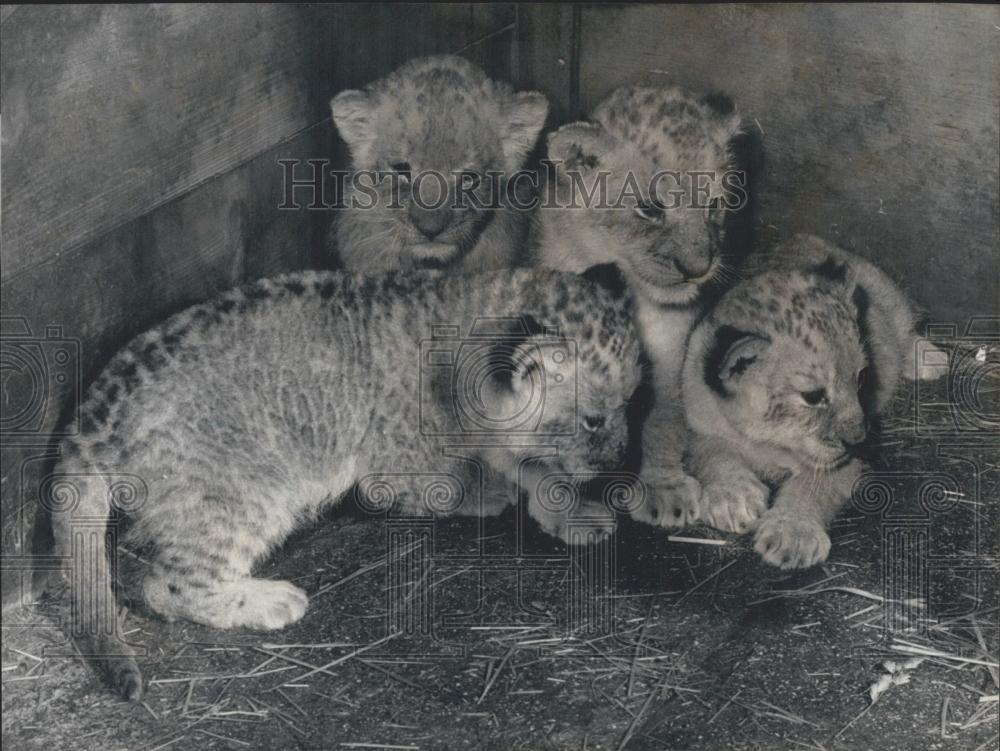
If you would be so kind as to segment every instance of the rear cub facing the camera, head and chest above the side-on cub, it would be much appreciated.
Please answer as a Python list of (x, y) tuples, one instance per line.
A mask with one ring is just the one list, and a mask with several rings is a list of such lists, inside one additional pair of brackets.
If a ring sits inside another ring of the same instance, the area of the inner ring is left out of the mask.
[(527, 202), (510, 205), (507, 179), (545, 125), (544, 96), (515, 93), (468, 60), (439, 55), (342, 91), (330, 106), (352, 169), (387, 176), (349, 186), (334, 225), (344, 267), (487, 271), (520, 260)]

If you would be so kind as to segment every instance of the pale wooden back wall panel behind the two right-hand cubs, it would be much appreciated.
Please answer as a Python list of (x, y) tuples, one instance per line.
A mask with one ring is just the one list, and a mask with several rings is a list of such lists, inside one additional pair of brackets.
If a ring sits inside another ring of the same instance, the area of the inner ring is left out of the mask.
[(823, 235), (886, 268), (937, 319), (997, 313), (996, 7), (581, 12), (582, 111), (622, 84), (667, 80), (728, 92), (763, 131), (764, 243)]

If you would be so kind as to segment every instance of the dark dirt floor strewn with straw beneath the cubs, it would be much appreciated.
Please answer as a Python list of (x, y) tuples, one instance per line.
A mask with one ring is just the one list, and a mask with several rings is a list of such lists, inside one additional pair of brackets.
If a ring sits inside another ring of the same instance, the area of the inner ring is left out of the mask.
[(628, 520), (613, 557), (528, 525), (518, 558), (513, 510), (435, 522), (425, 568), (419, 534), (397, 555), (384, 519), (342, 514), (263, 572), (311, 596), (284, 631), (137, 605), (139, 704), (51, 654), (58, 603), (9, 612), (4, 748), (995, 749), (997, 438), (914, 411), (941, 398), (901, 399), (830, 559), (793, 575), (746, 539)]

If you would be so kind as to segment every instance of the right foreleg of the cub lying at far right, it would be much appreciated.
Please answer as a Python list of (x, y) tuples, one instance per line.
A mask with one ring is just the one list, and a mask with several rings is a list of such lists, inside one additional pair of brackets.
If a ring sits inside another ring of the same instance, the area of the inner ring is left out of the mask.
[(853, 460), (836, 470), (792, 475), (761, 517), (754, 549), (772, 566), (783, 569), (808, 568), (825, 561), (830, 553), (827, 527), (850, 498), (862, 468), (860, 461)]

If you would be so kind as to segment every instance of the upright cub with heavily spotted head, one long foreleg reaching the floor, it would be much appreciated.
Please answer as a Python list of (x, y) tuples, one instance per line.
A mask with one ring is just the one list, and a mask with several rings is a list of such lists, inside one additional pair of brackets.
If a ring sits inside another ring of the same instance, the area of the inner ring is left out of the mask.
[[(555, 180), (535, 219), (534, 260), (567, 271), (614, 263), (635, 291), (654, 399), (641, 441), (650, 498), (635, 517), (668, 527), (698, 516), (701, 488), (682, 464), (680, 371), (705, 292), (739, 239), (729, 230), (746, 196), (724, 195), (733, 187), (724, 180), (745, 166), (742, 136), (740, 116), (722, 95), (637, 85), (548, 138)], [(547, 205), (552, 198), (556, 205)]]

